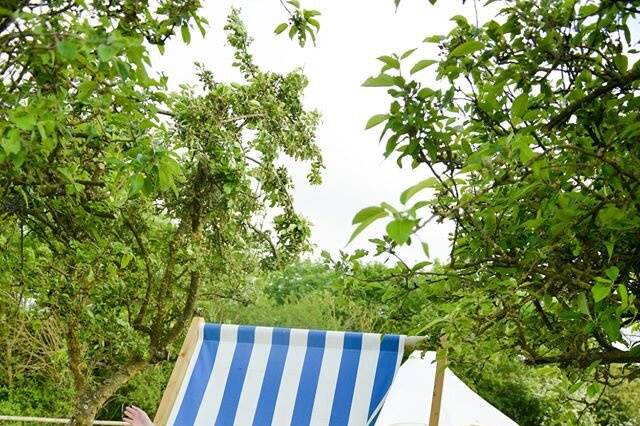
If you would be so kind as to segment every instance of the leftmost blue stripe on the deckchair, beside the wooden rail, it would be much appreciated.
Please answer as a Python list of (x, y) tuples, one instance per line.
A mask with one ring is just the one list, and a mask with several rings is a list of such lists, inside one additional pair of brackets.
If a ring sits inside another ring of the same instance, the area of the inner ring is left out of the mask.
[(175, 426), (192, 426), (200, 409), (204, 390), (209, 382), (216, 359), (220, 340), (220, 325), (205, 324), (200, 353), (189, 379), (189, 385), (182, 398), (182, 405), (176, 416)]

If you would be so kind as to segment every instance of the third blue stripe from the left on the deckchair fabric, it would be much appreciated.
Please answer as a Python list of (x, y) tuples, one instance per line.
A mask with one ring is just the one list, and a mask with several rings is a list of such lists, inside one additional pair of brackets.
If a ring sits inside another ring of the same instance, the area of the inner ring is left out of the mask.
[(260, 389), (260, 397), (253, 417), (253, 426), (271, 426), (273, 412), (278, 400), (278, 391), (282, 381), (284, 363), (287, 360), (289, 338), (291, 330), (288, 328), (274, 328), (271, 337), (271, 350), (267, 360), (265, 377)]

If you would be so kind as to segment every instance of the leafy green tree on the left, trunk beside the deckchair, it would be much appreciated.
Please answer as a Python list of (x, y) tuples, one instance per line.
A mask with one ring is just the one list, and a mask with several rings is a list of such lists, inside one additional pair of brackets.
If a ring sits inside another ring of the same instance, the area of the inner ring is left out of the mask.
[(167, 359), (200, 294), (241, 292), (248, 273), (308, 247), (278, 165), (309, 162), (320, 180), (306, 78), (261, 71), (236, 11), (226, 29), (243, 82), (201, 69), (201, 93), (174, 95), (147, 72), (149, 46), (202, 28), (199, 6), (1, 11), (0, 318), (62, 324), (74, 425)]

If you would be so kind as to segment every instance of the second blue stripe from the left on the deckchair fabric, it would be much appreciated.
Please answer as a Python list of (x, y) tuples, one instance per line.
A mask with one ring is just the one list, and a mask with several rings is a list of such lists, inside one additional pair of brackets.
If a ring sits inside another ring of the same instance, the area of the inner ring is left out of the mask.
[(233, 426), (235, 422), (238, 402), (240, 401), (240, 394), (242, 393), (251, 351), (253, 350), (255, 332), (255, 327), (238, 327), (238, 340), (231, 366), (229, 367), (229, 376), (222, 395), (216, 426)]

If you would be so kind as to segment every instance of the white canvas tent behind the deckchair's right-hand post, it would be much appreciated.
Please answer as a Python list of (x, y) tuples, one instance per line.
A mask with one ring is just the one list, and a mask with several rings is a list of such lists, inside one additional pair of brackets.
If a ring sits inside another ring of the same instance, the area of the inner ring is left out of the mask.
[[(400, 366), (376, 426), (426, 426), (436, 373), (435, 352), (416, 351)], [(518, 426), (472, 391), (451, 370), (445, 371), (440, 426)]]

